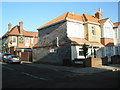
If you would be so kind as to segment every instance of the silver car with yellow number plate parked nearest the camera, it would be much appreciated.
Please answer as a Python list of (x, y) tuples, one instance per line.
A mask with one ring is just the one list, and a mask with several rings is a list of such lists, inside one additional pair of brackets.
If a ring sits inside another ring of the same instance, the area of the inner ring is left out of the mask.
[(6, 58), (4, 59), (5, 62), (7, 63), (21, 63), (21, 59), (19, 56), (16, 55), (8, 55), (6, 56)]

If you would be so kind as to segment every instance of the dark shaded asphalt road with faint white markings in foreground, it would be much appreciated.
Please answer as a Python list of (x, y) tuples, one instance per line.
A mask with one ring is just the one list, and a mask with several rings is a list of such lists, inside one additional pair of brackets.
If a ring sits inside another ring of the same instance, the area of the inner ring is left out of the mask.
[(119, 86), (120, 71), (109, 70), (83, 75), (62, 70), (62, 66), (46, 67), (3, 63), (2, 88), (118, 88)]

